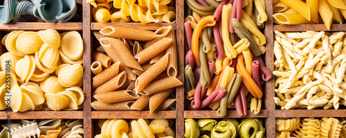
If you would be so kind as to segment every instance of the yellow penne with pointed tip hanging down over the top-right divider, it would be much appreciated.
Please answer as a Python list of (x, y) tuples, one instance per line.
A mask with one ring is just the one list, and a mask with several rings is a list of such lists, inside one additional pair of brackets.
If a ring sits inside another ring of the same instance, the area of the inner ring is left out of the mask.
[(331, 11), (326, 0), (318, 1), (318, 12), (325, 23), (326, 28), (329, 30), (331, 21), (333, 19), (333, 12)]

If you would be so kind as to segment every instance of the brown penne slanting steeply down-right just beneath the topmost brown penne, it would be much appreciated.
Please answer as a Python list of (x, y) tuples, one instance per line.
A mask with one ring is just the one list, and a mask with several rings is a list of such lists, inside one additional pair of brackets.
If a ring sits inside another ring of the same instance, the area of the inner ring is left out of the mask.
[(118, 39), (106, 38), (107, 41), (111, 44), (110, 46), (114, 49), (114, 54), (118, 56), (120, 61), (130, 68), (136, 68), (138, 70), (143, 70), (140, 67), (139, 63), (134, 59), (134, 56), (131, 54), (129, 48), (125, 46), (125, 43)]

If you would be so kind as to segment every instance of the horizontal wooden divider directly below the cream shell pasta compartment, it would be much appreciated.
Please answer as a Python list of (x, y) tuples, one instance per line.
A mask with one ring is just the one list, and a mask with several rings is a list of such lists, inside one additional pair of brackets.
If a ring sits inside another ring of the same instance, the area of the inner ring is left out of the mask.
[(28, 111), (28, 112), (0, 112), (0, 119), (83, 119), (83, 111)]

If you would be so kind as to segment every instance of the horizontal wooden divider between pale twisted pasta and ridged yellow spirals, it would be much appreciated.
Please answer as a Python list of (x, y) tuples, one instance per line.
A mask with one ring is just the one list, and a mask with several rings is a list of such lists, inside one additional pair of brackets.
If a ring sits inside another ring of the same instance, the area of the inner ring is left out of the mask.
[(346, 117), (346, 109), (276, 110), (275, 113), (275, 117)]

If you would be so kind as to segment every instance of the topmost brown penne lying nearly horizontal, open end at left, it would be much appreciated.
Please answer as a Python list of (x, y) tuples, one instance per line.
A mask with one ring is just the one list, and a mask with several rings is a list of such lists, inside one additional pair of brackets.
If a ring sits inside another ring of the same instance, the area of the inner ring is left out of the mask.
[(100, 33), (108, 37), (119, 37), (142, 41), (149, 41), (156, 37), (156, 34), (149, 30), (140, 30), (135, 28), (125, 28), (117, 26), (107, 26), (100, 30)]

